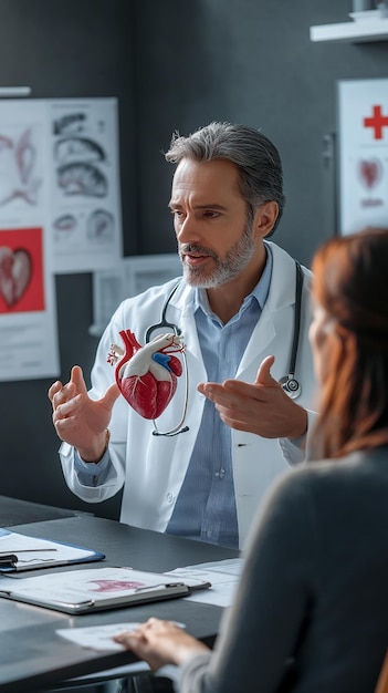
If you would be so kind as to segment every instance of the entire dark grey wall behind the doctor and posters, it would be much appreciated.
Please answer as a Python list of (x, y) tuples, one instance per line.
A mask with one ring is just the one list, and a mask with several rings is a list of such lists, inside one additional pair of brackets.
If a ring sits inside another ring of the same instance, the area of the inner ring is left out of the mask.
[[(176, 248), (167, 211), (171, 132), (211, 120), (261, 127), (284, 164), (286, 208), (274, 240), (310, 263), (335, 232), (336, 81), (387, 76), (388, 42), (312, 43), (310, 25), (347, 21), (350, 0), (1, 0), (0, 84), (33, 97), (117, 96), (126, 255)], [(88, 373), (91, 276), (59, 277), (61, 376)], [(65, 487), (46, 391), (1, 383), (0, 493), (116, 517)]]

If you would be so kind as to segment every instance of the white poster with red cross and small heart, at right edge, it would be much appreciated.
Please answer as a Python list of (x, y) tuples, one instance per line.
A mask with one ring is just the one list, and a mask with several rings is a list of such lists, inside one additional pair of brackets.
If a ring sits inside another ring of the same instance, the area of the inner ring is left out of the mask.
[(388, 226), (388, 79), (338, 82), (342, 234)]

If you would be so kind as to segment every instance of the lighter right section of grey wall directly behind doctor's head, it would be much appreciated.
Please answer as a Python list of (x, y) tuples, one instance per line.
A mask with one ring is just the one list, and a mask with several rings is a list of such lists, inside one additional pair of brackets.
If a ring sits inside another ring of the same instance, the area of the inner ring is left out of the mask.
[[(336, 81), (387, 76), (388, 42), (312, 43), (310, 27), (350, 21), (352, 0), (165, 0), (138, 3), (136, 94), (143, 247), (175, 249), (160, 149), (174, 128), (211, 120), (261, 127), (284, 164), (274, 240), (308, 263), (334, 231), (323, 138), (336, 127)], [(157, 113), (157, 118), (155, 114)], [(159, 236), (155, 237), (156, 220)], [(160, 225), (162, 220), (162, 225)]]

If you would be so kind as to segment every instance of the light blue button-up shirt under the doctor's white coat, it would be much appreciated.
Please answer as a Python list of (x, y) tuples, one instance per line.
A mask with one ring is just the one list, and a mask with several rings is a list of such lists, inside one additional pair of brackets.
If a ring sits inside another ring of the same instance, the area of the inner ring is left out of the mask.
[[(226, 324), (212, 312), (206, 290), (196, 290), (195, 319), (208, 381), (222, 383), (235, 377), (270, 290), (272, 254), (269, 246), (265, 249), (268, 259), (259, 283)], [(75, 454), (80, 480), (88, 486), (104, 483), (109, 464), (108, 452), (98, 465), (84, 463)], [(205, 402), (189, 467), (166, 531), (209, 544), (239, 547), (231, 430), (209, 400)]]

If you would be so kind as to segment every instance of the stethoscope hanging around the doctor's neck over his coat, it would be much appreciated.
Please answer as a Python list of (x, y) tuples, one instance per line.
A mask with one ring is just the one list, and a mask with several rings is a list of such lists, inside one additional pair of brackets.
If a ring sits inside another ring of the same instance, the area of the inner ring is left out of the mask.
[[(289, 397), (291, 397), (291, 400), (296, 400), (301, 395), (301, 392), (302, 392), (301, 384), (295, 377), (295, 368), (296, 368), (297, 350), (298, 350), (298, 344), (300, 344), (300, 332), (301, 332), (302, 288), (303, 288), (303, 270), (302, 270), (301, 265), (297, 262), (297, 260), (295, 260), (295, 270), (296, 270), (295, 314), (294, 314), (294, 329), (293, 329), (289, 375), (284, 375), (284, 377), (282, 377), (279, 381), (284, 392), (289, 395)], [(178, 328), (178, 325), (172, 322), (169, 322), (166, 319), (168, 306), (179, 286), (180, 286), (180, 281), (172, 288), (172, 290), (168, 294), (161, 309), (159, 322), (156, 322), (155, 324), (150, 324), (149, 328), (146, 330), (146, 333), (145, 333), (146, 344), (149, 343), (153, 332), (155, 332), (155, 330), (159, 330), (160, 328), (168, 328), (169, 330), (172, 330), (176, 337), (181, 335), (181, 330)], [(183, 371), (185, 371), (185, 400), (183, 400), (183, 408), (182, 408), (182, 413), (180, 416), (180, 421), (176, 426), (174, 426), (169, 431), (159, 431), (156, 424), (156, 421), (153, 420), (153, 424), (154, 424), (153, 435), (170, 437), (174, 435), (178, 435), (179, 433), (186, 433), (187, 431), (189, 431), (189, 426), (183, 426), (186, 414), (187, 414), (188, 399), (189, 399), (189, 375), (188, 375), (187, 358), (186, 358), (185, 349), (182, 350), (181, 354), (182, 354)]]

